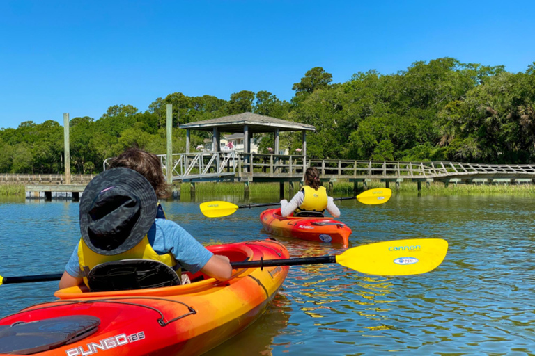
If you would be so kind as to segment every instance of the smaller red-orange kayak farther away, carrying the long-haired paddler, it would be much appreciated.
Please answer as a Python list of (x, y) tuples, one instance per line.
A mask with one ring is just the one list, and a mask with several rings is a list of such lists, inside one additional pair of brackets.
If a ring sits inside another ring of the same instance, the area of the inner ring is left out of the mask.
[(334, 218), (302, 218), (281, 216), (281, 209), (267, 209), (260, 214), (265, 231), (285, 237), (308, 241), (336, 243), (348, 247), (351, 229)]

